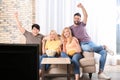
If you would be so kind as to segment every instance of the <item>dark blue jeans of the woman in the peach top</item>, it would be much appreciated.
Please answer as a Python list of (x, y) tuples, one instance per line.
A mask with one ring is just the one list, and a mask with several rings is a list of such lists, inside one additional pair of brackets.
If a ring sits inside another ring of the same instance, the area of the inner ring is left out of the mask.
[(68, 56), (65, 52), (61, 52), (61, 57), (70, 58), (71, 63), (73, 63), (73, 65), (74, 65), (74, 73), (80, 74), (79, 60), (83, 57), (80, 53), (75, 53), (73, 56)]

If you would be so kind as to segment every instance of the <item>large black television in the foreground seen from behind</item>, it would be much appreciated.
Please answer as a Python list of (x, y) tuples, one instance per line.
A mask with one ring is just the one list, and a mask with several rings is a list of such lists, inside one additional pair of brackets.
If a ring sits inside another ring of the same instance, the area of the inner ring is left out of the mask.
[(39, 80), (38, 44), (0, 44), (0, 80)]

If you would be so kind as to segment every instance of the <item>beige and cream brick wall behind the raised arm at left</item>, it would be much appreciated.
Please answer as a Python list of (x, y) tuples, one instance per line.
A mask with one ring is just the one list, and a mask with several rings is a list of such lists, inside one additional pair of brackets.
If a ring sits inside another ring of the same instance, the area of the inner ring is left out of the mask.
[(0, 2), (0, 43), (21, 43), (25, 38), (17, 28), (14, 13), (25, 29), (31, 30), (34, 22), (35, 0), (2, 0)]

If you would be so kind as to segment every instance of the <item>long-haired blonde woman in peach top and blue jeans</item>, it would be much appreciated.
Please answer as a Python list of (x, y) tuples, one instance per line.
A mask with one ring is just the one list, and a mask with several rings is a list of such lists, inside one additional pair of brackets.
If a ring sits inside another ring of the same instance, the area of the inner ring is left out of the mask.
[(73, 37), (69, 27), (65, 27), (62, 32), (63, 52), (61, 57), (69, 57), (74, 65), (75, 80), (79, 80), (80, 64), (79, 60), (82, 58), (81, 47), (77, 38)]

